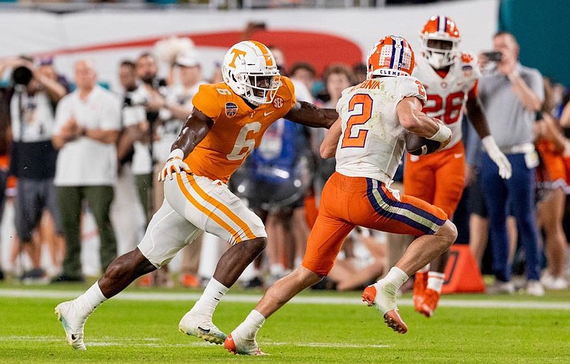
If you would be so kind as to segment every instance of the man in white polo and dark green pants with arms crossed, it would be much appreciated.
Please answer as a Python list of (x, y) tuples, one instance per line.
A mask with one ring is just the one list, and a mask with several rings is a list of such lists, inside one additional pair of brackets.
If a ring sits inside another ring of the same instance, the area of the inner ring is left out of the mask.
[(117, 255), (110, 204), (117, 174), (115, 142), (120, 130), (120, 103), (97, 85), (88, 61), (74, 66), (77, 89), (56, 110), (53, 145), (59, 149), (55, 184), (66, 236), (63, 273), (53, 281), (83, 281), (81, 273), (81, 204), (87, 200), (99, 229), (100, 261), (106, 269)]

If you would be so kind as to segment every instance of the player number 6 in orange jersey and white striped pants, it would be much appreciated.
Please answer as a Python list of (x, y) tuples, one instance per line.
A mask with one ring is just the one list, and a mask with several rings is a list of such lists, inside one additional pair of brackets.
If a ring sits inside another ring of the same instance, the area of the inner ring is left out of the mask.
[(73, 348), (86, 349), (83, 328), (100, 303), (167, 264), (204, 231), (232, 246), (219, 259), (212, 280), (179, 329), (212, 343), (224, 342), (226, 335), (212, 323), (214, 309), (266, 245), (261, 219), (229, 192), (226, 183), (274, 121), (286, 118), (330, 128), (338, 113), (297, 102), (291, 80), (279, 75), (271, 51), (257, 41), (232, 46), (222, 73), (224, 82), (200, 85), (192, 99), (194, 109), (159, 175), (165, 182), (165, 200), (138, 247), (115, 259), (81, 296), (56, 307)]

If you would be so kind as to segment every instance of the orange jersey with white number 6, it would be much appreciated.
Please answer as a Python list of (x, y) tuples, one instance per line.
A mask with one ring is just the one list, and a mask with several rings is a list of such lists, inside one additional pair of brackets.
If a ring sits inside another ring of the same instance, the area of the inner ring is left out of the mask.
[(254, 148), (269, 125), (296, 103), (293, 83), (281, 76), (273, 102), (252, 109), (226, 83), (200, 85), (192, 105), (214, 120), (206, 137), (185, 158), (195, 175), (226, 183)]

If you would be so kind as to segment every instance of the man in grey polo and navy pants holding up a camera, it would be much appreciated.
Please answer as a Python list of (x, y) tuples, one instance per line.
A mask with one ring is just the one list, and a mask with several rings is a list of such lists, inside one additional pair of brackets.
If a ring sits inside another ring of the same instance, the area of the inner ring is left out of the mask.
[[(490, 64), (492, 70), (480, 79), (479, 95), (489, 130), (511, 162), (512, 178), (502, 180), (497, 165), (487, 153), (483, 153), (481, 178), (489, 210), (493, 271), (497, 277), (497, 284), (491, 291), (514, 292), (505, 224), (505, 207), (509, 199), (527, 259), (527, 293), (542, 296), (544, 288), (539, 282), (541, 253), (534, 217), (534, 178), (538, 157), (533, 144), (533, 124), (535, 113), (540, 110), (544, 99), (544, 87), (539, 71), (519, 63), (519, 45), (512, 34), (497, 33), (493, 43), (494, 51), (500, 52), (502, 57), (497, 63)], [(485, 69), (489, 59), (482, 54), (480, 62)]]

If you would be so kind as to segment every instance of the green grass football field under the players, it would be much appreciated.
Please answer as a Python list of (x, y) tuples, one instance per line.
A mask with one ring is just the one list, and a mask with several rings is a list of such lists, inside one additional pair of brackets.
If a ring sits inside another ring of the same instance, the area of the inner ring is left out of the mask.
[[(302, 293), (269, 318), (261, 349), (243, 357), (178, 333), (199, 291), (129, 289), (86, 325), (87, 351), (66, 345), (53, 308), (87, 286), (0, 285), (0, 363), (570, 363), (570, 292), (544, 298), (442, 298), (436, 316), (400, 313), (410, 330), (390, 331), (359, 292)], [(230, 291), (214, 322), (227, 333), (254, 307), (257, 292)]]

